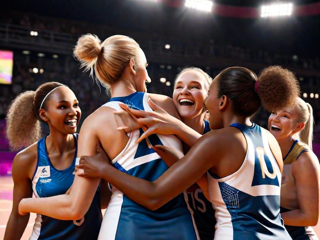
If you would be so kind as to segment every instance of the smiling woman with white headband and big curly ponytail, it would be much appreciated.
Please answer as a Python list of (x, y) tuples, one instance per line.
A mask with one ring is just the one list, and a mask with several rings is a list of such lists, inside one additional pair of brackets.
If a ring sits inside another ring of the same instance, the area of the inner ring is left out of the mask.
[[(21, 215), (22, 198), (64, 194), (71, 187), (77, 155), (77, 125), (81, 109), (74, 92), (58, 82), (17, 95), (6, 116), (6, 135), (12, 150), (21, 150), (12, 163), (13, 206), (4, 239), (20, 239), (29, 221)], [(50, 134), (41, 138), (41, 124)], [(96, 239), (102, 215), (99, 193), (84, 219), (61, 221), (37, 214), (30, 239)]]

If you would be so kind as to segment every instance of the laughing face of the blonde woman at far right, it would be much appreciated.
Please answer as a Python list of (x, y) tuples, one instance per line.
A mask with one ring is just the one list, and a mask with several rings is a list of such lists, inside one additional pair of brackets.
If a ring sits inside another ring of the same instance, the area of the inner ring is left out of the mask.
[(295, 108), (286, 108), (271, 112), (268, 119), (269, 131), (277, 140), (291, 137), (299, 131), (298, 113)]

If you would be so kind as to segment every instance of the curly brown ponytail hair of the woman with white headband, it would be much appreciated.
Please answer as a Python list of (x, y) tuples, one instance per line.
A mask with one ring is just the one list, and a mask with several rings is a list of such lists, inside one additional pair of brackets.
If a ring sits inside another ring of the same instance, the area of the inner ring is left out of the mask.
[[(20, 150), (30, 146), (42, 136), (39, 109), (44, 97), (54, 88), (65, 86), (58, 82), (40, 85), (36, 91), (25, 91), (16, 96), (9, 105), (6, 114), (6, 137), (10, 149)], [(50, 94), (44, 100), (42, 108), (48, 109)]]

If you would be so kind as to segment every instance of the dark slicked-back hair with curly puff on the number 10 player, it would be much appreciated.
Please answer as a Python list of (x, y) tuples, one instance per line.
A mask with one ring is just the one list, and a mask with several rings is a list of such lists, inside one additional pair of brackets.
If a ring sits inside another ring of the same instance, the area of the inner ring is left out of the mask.
[(228, 67), (217, 79), (218, 98), (226, 95), (239, 116), (253, 116), (261, 105), (267, 111), (283, 109), (300, 95), (298, 80), (281, 66), (266, 67), (258, 77), (246, 67)]

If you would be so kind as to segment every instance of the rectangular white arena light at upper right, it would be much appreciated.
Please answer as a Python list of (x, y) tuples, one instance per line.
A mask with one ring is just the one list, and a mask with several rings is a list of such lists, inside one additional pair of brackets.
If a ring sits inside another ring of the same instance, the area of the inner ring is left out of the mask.
[(261, 7), (261, 17), (290, 16), (292, 14), (292, 8), (292, 3), (263, 5)]

